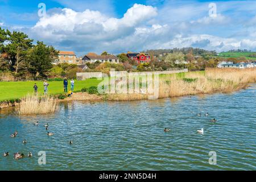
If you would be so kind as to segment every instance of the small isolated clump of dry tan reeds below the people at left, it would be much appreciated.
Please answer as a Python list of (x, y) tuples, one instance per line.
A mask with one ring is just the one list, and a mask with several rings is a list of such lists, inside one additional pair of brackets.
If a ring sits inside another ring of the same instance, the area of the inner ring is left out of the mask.
[(53, 97), (27, 95), (15, 110), (19, 115), (35, 115), (54, 113), (58, 107), (57, 100)]

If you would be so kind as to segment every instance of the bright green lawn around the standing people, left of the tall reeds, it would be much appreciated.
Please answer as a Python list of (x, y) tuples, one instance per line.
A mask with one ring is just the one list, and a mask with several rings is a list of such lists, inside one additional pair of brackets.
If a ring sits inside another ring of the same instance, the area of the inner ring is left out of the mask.
[[(43, 81), (18, 81), (18, 82), (0, 82), (0, 101), (13, 100), (22, 98), (28, 93), (34, 93), (34, 84), (38, 85), (38, 92), (44, 93)], [(85, 81), (75, 80), (75, 91), (81, 90), (90, 86), (97, 86), (100, 81), (97, 78), (90, 78)], [(63, 93), (63, 81), (49, 81), (48, 94)], [(70, 81), (68, 88), (70, 86)]]

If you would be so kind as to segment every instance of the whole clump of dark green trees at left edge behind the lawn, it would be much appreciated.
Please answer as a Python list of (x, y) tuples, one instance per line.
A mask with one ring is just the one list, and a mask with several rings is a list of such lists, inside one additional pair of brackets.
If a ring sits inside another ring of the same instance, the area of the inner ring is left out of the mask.
[(23, 32), (4, 30), (0, 27), (0, 71), (15, 77), (47, 77), (47, 72), (58, 57), (59, 51), (43, 42), (33, 44)]

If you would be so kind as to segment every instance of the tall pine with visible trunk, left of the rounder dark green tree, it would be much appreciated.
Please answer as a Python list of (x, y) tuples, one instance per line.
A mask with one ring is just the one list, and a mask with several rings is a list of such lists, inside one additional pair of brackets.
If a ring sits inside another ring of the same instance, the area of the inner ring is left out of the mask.
[(3, 46), (3, 51), (8, 55), (8, 63), (11, 71), (18, 73), (18, 69), (24, 63), (24, 57), (28, 49), (32, 47), (32, 39), (23, 32), (10, 32), (7, 30), (7, 45)]

